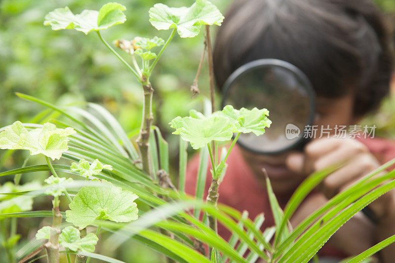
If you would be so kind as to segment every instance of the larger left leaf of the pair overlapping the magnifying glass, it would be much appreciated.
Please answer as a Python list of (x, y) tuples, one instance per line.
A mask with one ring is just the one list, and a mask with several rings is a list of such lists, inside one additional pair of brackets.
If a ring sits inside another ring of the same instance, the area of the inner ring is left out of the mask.
[(170, 122), (170, 125), (176, 129), (173, 134), (181, 135), (181, 138), (190, 142), (194, 149), (199, 149), (213, 140), (231, 140), (234, 121), (224, 116), (211, 116), (204, 119), (178, 116)]

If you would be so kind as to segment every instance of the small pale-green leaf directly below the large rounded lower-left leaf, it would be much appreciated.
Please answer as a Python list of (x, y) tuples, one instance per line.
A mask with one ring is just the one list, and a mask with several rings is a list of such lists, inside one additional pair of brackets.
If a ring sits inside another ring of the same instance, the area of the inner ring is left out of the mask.
[(95, 251), (95, 245), (98, 240), (97, 236), (93, 233), (88, 233), (86, 236), (80, 238), (79, 230), (73, 226), (65, 227), (59, 236), (59, 243), (73, 251), (93, 252)]

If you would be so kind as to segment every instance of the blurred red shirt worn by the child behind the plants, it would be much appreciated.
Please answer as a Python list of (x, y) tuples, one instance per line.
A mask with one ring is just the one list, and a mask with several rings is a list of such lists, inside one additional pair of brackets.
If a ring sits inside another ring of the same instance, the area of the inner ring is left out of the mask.
[[(366, 145), (370, 152), (372, 152), (381, 163), (395, 158), (395, 142), (380, 138), (357, 140)], [(258, 183), (252, 170), (241, 156), (240, 149), (237, 145), (229, 155), (227, 163), (228, 168), (219, 187), (218, 202), (231, 206), (240, 212), (247, 210), (249, 218), (252, 220), (258, 214), (264, 213), (265, 222), (261, 227), (262, 230), (266, 227), (275, 225), (266, 188)], [(196, 191), (198, 166), (199, 156), (196, 155), (189, 162), (186, 175), (185, 190), (191, 195), (195, 195)], [(211, 182), (211, 165), (208, 166), (204, 198), (207, 196)], [(285, 204), (280, 205), (285, 206)], [(225, 240), (229, 240), (231, 236), (231, 233), (221, 225), (218, 226), (218, 233)], [(333, 256), (338, 258), (351, 256), (336, 249), (330, 243), (326, 243), (321, 248), (319, 254), (320, 256)]]

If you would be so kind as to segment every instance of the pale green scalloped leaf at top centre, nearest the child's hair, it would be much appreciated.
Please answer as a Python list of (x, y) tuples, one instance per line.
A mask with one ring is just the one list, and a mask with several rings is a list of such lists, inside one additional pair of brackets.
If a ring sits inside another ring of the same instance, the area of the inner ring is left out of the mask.
[(201, 25), (218, 25), (224, 16), (207, 0), (197, 0), (190, 7), (168, 7), (157, 3), (150, 8), (150, 22), (158, 30), (176, 28), (181, 38), (193, 38)]

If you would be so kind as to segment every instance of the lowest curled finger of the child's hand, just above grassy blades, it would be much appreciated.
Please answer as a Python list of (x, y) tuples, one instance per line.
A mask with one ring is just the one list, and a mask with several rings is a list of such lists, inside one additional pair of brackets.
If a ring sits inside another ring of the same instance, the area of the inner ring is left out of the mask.
[(331, 198), (349, 187), (377, 167), (376, 160), (369, 154), (359, 154), (350, 163), (327, 176), (322, 182), (322, 192)]

